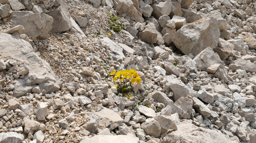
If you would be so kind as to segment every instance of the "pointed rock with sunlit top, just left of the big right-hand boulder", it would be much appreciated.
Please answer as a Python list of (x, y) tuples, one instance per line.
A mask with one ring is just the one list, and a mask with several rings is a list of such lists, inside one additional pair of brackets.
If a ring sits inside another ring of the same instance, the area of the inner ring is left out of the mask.
[(143, 32), (139, 33), (138, 36), (141, 38), (141, 41), (147, 43), (158, 43), (158, 45), (161, 45), (163, 41), (161, 33), (156, 30), (153, 23), (147, 24)]

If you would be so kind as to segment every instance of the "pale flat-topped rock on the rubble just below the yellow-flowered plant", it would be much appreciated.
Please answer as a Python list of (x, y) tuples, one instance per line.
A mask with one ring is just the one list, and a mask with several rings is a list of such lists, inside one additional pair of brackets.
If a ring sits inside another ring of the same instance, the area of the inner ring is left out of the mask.
[(103, 108), (103, 110), (97, 111), (95, 114), (102, 119), (106, 118), (110, 123), (112, 123), (109, 127), (110, 130), (117, 128), (125, 121), (118, 113), (115, 113), (115, 111), (108, 108)]

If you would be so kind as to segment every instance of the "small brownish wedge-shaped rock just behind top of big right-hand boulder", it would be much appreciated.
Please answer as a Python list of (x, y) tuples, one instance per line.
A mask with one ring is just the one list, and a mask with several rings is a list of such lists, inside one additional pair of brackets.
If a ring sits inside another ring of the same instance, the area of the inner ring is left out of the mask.
[(182, 17), (186, 18), (187, 23), (192, 23), (194, 21), (197, 21), (203, 18), (201, 14), (195, 13), (195, 11), (187, 10), (185, 8), (181, 8), (181, 10), (182, 10)]

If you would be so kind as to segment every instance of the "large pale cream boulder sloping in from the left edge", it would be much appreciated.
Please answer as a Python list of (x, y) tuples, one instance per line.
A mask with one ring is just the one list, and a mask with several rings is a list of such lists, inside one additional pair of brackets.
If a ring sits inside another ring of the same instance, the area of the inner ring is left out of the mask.
[(32, 46), (23, 39), (17, 39), (6, 33), (0, 34), (0, 54), (2, 57), (14, 58), (24, 64), (20, 65), (17, 78), (14, 84), (14, 97), (19, 97), (30, 92), (35, 86), (40, 91), (58, 91), (61, 81), (53, 73), (50, 65), (35, 54)]

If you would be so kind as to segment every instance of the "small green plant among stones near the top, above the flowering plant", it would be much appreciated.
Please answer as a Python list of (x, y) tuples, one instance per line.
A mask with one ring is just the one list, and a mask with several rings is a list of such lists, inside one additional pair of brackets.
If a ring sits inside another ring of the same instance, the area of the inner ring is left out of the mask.
[(117, 17), (116, 15), (110, 13), (108, 15), (110, 17), (110, 29), (112, 29), (116, 33), (124, 29), (124, 24), (120, 17)]

